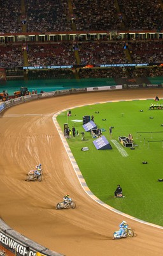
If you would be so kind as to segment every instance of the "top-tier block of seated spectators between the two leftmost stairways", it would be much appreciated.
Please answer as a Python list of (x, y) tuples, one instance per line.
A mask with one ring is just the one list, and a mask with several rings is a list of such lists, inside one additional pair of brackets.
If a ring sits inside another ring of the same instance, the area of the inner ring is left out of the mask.
[(27, 31), (70, 31), (71, 20), (68, 17), (67, 1), (25, 1), (27, 13)]

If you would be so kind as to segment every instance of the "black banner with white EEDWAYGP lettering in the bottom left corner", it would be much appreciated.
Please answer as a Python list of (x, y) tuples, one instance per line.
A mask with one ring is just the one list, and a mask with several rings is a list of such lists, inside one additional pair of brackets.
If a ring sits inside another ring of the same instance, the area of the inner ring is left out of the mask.
[(36, 256), (36, 252), (31, 250), (29, 246), (20, 243), (17, 239), (0, 231), (0, 244), (7, 248), (17, 256)]

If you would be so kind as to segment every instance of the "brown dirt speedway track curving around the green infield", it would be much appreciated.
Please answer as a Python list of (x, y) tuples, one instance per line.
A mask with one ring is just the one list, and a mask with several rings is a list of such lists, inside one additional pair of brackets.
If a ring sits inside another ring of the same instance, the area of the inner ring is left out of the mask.
[[(94, 92), (37, 100), (7, 109), (0, 118), (0, 217), (24, 236), (66, 256), (161, 255), (163, 230), (134, 220), (125, 218), (136, 233), (134, 238), (112, 240), (124, 217), (97, 204), (83, 191), (52, 116), (72, 106), (155, 95), (163, 98), (162, 93)], [(43, 181), (25, 182), (26, 173), (39, 162), (43, 164)], [(66, 193), (76, 202), (76, 209), (55, 210)]]

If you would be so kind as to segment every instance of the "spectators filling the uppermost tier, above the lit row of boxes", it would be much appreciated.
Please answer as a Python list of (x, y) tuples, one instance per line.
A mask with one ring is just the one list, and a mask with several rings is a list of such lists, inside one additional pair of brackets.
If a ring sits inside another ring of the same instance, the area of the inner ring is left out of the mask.
[[(162, 29), (162, 0), (1, 1), (1, 33)], [(23, 21), (24, 20), (24, 21)]]

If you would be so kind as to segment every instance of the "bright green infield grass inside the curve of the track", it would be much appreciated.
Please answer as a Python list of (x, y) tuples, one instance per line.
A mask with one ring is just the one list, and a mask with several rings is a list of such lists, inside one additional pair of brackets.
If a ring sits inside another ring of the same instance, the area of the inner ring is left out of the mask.
[[(163, 109), (150, 110), (151, 103), (155, 104), (154, 100), (87, 105), (71, 109), (71, 116), (67, 116), (67, 111), (62, 112), (57, 122), (62, 131), (64, 124), (71, 130), (74, 125), (78, 131), (79, 135), (71, 135), (67, 143), (94, 195), (119, 211), (163, 225), (163, 182), (158, 181), (163, 179)], [(103, 135), (110, 142), (111, 150), (97, 150), (93, 143), (96, 138), (85, 132), (83, 122), (74, 121), (83, 120), (85, 115), (94, 115), (94, 123), (105, 130)], [(109, 127), (113, 127), (112, 136)], [(85, 132), (87, 140), (81, 140), (81, 132)], [(134, 139), (134, 150), (118, 141), (118, 136), (129, 134)], [(82, 147), (89, 150), (82, 151)], [(124, 198), (114, 197), (118, 184)]]

